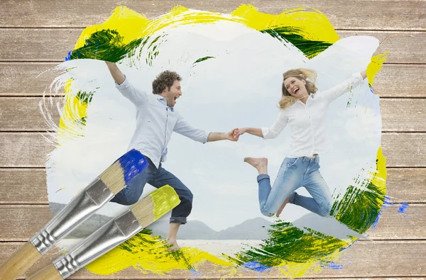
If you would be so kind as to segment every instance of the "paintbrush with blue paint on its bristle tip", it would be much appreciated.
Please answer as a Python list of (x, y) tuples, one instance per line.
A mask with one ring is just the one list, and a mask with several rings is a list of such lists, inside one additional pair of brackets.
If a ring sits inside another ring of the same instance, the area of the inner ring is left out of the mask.
[(6, 259), (0, 267), (1, 280), (14, 280), (62, 237), (84, 222), (148, 165), (137, 150), (130, 150), (70, 201), (39, 233)]

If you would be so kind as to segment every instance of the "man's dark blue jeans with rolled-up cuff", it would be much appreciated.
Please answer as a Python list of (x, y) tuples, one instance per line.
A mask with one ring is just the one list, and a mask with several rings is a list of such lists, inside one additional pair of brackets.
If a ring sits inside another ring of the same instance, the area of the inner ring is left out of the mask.
[(138, 202), (146, 183), (157, 189), (168, 184), (175, 189), (180, 198), (180, 204), (173, 208), (170, 223), (187, 223), (187, 216), (190, 215), (192, 210), (192, 193), (190, 189), (188, 189), (180, 179), (175, 177), (175, 175), (161, 167), (161, 164), (157, 168), (151, 159), (148, 157), (146, 157), (146, 159), (148, 161), (148, 167), (146, 167), (141, 174), (138, 174), (126, 188), (116, 194), (116, 196), (111, 199), (111, 202), (122, 205), (132, 205)]

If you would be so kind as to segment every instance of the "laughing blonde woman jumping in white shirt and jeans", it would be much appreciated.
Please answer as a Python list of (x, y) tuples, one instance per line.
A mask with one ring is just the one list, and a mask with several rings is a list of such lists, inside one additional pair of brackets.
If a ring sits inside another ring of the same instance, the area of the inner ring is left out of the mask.
[[(366, 79), (366, 71), (332, 89), (317, 91), (317, 74), (311, 69), (292, 69), (283, 74), (280, 113), (270, 128), (238, 128), (234, 138), (249, 133), (265, 139), (276, 138), (286, 125), (291, 129), (291, 145), (271, 188), (268, 159), (246, 157), (244, 162), (258, 170), (258, 198), (261, 213), (271, 217), (283, 211), (287, 203), (302, 206), (323, 217), (329, 217), (332, 198), (320, 173), (320, 157), (326, 149), (325, 117), (329, 103)], [(300, 196), (296, 189), (304, 186), (312, 198)]]

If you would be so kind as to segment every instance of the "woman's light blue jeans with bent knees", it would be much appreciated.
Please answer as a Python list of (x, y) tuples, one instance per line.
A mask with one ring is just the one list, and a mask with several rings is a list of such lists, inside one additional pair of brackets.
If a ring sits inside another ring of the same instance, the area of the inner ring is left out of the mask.
[[(259, 174), (259, 204), (261, 213), (274, 215), (281, 204), (290, 196), (290, 203), (302, 206), (323, 217), (329, 217), (331, 195), (327, 183), (320, 173), (320, 157), (286, 157), (271, 188), (268, 174)], [(312, 198), (295, 192), (304, 186)]]

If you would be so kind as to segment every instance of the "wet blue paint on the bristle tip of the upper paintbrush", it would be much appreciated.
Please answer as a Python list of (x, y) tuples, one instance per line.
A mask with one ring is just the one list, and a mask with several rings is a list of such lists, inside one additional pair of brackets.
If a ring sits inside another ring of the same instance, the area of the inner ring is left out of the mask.
[(126, 152), (126, 154), (122, 155), (118, 161), (123, 169), (123, 176), (126, 185), (128, 185), (131, 180), (136, 177), (136, 175), (141, 173), (143, 169), (146, 169), (148, 166), (146, 158), (143, 157), (141, 152), (135, 149)]

